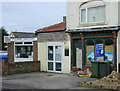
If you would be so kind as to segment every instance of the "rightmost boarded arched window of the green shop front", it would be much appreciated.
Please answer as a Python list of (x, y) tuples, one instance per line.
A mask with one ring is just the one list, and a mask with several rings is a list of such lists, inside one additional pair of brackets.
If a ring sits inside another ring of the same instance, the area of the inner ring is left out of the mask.
[(105, 41), (105, 61), (114, 62), (114, 42), (112, 39)]

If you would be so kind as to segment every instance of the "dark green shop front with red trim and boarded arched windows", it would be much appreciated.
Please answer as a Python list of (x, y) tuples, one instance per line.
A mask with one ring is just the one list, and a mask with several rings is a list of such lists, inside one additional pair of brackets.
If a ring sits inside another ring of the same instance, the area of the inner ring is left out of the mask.
[(71, 66), (92, 71), (91, 62), (110, 62), (117, 68), (117, 28), (69, 31), (71, 36)]

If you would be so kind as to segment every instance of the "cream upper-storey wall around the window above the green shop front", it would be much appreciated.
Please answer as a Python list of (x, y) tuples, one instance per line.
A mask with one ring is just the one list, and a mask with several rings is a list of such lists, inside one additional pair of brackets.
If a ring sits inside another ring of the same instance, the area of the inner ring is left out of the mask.
[[(71, 1), (74, 1), (74, 0), (71, 0)], [(112, 0), (109, 0), (110, 2), (107, 2), (107, 0), (101, 0), (103, 1), (103, 3), (106, 4), (106, 22), (103, 24), (102, 23), (94, 23), (94, 24), (85, 23), (84, 25), (80, 24), (80, 5), (83, 2), (90, 1), (90, 0), (79, 0), (79, 1), (80, 2), (67, 3), (67, 30), (120, 25), (120, 17), (118, 18), (118, 16), (120, 16), (120, 3), (118, 3), (118, 1), (120, 0), (116, 0), (116, 2), (113, 2)], [(97, 3), (97, 2), (92, 2), (92, 3), (93, 5), (90, 2), (86, 3), (86, 6), (101, 5), (101, 3)]]

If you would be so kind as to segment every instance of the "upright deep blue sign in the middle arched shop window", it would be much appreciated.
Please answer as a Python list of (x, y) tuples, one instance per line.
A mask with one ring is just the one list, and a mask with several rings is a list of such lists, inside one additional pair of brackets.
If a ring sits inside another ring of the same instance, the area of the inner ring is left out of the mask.
[(103, 43), (97, 43), (96, 44), (96, 56), (97, 57), (104, 56), (104, 45), (103, 45)]

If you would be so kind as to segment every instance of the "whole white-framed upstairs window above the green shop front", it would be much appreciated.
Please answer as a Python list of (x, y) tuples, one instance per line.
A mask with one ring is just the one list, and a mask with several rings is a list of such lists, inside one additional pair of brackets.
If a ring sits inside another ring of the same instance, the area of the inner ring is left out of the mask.
[(105, 22), (105, 9), (105, 5), (82, 8), (80, 11), (81, 23)]

